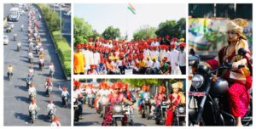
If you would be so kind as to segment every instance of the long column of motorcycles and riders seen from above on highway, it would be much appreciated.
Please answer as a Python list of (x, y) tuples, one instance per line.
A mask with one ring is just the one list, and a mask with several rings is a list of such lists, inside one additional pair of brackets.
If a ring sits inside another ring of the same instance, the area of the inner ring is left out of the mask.
[[(38, 53), (38, 56), (41, 53), (44, 53), (44, 49), (42, 47), (42, 43), (41, 43), (41, 39), (40, 36), (38, 35), (38, 21), (37, 21), (37, 11), (36, 9), (34, 9), (33, 7), (30, 7), (31, 9), (29, 10), (29, 14), (28, 14), (28, 43), (29, 43), (29, 48), (28, 48), (28, 61), (30, 64), (33, 63), (33, 53), (32, 51), (35, 48), (36, 53)], [(24, 31), (24, 26), (21, 25), (21, 31)], [(17, 34), (15, 34), (14, 36), (15, 40), (17, 40)], [(17, 40), (18, 41), (18, 40)], [(33, 42), (37, 42), (36, 46), (34, 46)], [(17, 42), (17, 52), (20, 52), (20, 48), (21, 48), (21, 42), (18, 41)], [(44, 59), (41, 58), (38, 61), (39, 64), (39, 69), (43, 70), (44, 68)], [(55, 69), (54, 67), (52, 69), (49, 69), (49, 76), (52, 78), (54, 76), (54, 72)], [(9, 74), (8, 74), (9, 75)], [(9, 78), (12, 75), (9, 75)], [(29, 72), (28, 72), (28, 76), (26, 77), (26, 87), (28, 90), (28, 100), (30, 102), (32, 102), (33, 100), (36, 100), (36, 96), (37, 96), (37, 90), (35, 87), (32, 87), (33, 85), (33, 79), (34, 79), (34, 70), (32, 69), (32, 67), (30, 68)], [(46, 85), (46, 84), (45, 84)], [(46, 88), (46, 96), (49, 97), (50, 92), (52, 91), (52, 86), (48, 86)], [(63, 102), (64, 101), (64, 102)], [(62, 103), (65, 104), (65, 107), (67, 108), (67, 104), (68, 104), (68, 98), (64, 97), (62, 99)], [(38, 112), (39, 108), (32, 108), (29, 109), (29, 117), (32, 123), (35, 122), (35, 120), (37, 119), (37, 112)], [(53, 109), (49, 109), (49, 113), (48, 113), (48, 118), (49, 121), (53, 121), (54, 117), (55, 117), (55, 112), (56, 112), (56, 108)]]

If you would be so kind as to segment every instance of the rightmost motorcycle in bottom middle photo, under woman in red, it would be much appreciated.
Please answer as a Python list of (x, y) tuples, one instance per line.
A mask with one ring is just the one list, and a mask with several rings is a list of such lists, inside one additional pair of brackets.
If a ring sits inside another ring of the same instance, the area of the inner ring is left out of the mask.
[(178, 104), (174, 110), (173, 126), (186, 126), (186, 105)]

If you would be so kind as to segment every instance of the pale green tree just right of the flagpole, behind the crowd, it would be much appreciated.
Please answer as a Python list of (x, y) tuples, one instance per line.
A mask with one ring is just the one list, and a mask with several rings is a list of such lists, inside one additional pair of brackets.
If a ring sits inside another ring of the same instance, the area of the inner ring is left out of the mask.
[(156, 29), (150, 26), (143, 26), (133, 34), (133, 40), (148, 39), (148, 37), (155, 37)]

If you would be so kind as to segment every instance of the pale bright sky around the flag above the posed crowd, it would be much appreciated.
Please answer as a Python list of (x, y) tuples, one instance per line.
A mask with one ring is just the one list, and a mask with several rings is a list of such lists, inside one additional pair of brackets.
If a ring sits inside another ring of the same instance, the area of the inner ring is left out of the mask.
[(127, 8), (128, 3), (75, 3), (74, 16), (84, 18), (93, 30), (102, 33), (108, 26), (118, 27), (121, 36), (128, 34), (132, 39), (133, 33), (139, 28), (149, 25), (158, 27), (166, 20), (185, 18), (186, 4), (183, 3), (137, 3), (131, 5), (136, 9), (132, 14)]

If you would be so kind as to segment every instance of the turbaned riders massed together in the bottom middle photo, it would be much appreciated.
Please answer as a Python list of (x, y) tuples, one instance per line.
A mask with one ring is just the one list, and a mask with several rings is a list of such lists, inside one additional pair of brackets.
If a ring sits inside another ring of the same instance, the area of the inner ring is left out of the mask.
[[(83, 105), (90, 104), (89, 98), (94, 96), (93, 108), (96, 109), (98, 114), (101, 114), (101, 107), (106, 106), (104, 115), (102, 115), (102, 126), (113, 126), (111, 125), (113, 120), (113, 106), (114, 104), (122, 103), (123, 105), (130, 105), (131, 109), (134, 104), (137, 103), (138, 113), (143, 112), (143, 101), (145, 100), (145, 94), (150, 96), (150, 108), (154, 105), (153, 119), (157, 119), (158, 112), (160, 112), (161, 103), (168, 104), (166, 112), (166, 119), (163, 122), (166, 126), (172, 126), (174, 118), (174, 110), (177, 109), (177, 105), (185, 105), (185, 96), (183, 94), (183, 82), (177, 81), (172, 83), (172, 92), (170, 95), (166, 95), (166, 87), (159, 86), (156, 93), (149, 90), (149, 86), (143, 85), (142, 87), (131, 87), (129, 83), (116, 81), (110, 84), (107, 81), (102, 81), (98, 85), (92, 83), (81, 83), (79, 80), (73, 82), (73, 100), (74, 105), (78, 106), (78, 109), (74, 113), (74, 121), (78, 122), (83, 119)], [(90, 105), (92, 106), (92, 105)], [(134, 112), (134, 111), (132, 111)], [(123, 126), (128, 123), (128, 115), (124, 116), (122, 121)], [(184, 119), (185, 120), (185, 119)], [(136, 120), (133, 120), (136, 121)], [(131, 125), (130, 125), (131, 126)]]

